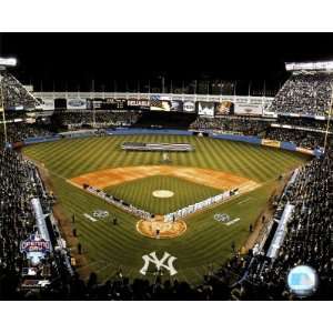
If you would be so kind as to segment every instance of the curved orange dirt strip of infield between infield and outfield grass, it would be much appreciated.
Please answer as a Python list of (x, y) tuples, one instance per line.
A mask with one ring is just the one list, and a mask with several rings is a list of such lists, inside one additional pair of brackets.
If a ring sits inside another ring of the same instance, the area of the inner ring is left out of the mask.
[[(79, 185), (80, 188), (83, 184), (89, 184), (98, 189), (105, 189), (122, 184), (123, 182), (134, 181), (152, 175), (176, 176), (222, 191), (239, 188), (241, 192), (248, 192), (259, 186), (259, 184), (252, 180), (223, 171), (171, 165), (142, 165), (105, 169), (81, 174), (70, 179), (69, 182), (77, 186)], [(242, 189), (244, 191), (242, 191)]]

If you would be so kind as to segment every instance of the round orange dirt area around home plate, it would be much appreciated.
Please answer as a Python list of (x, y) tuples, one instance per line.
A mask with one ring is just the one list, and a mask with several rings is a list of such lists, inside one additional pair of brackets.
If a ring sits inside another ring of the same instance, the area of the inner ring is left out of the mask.
[(186, 231), (186, 223), (182, 220), (164, 222), (163, 216), (155, 216), (150, 221), (140, 220), (137, 223), (137, 230), (151, 239), (173, 239)]

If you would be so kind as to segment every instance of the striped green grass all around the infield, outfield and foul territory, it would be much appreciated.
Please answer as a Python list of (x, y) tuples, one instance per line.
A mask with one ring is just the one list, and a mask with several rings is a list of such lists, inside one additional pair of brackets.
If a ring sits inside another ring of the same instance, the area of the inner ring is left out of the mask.
[[(171, 153), (172, 165), (221, 170), (252, 179), (262, 186), (186, 219), (188, 230), (180, 238), (148, 239), (137, 232), (134, 216), (65, 181), (95, 170), (160, 163), (160, 153), (121, 151), (120, 144), (125, 141), (188, 142), (195, 145), (195, 152)], [(75, 228), (85, 250), (89, 268), (98, 273), (101, 281), (112, 278), (119, 266), (131, 278), (142, 278), (139, 273), (143, 265), (142, 255), (157, 251), (160, 258), (168, 251), (178, 258), (176, 279), (193, 283), (201, 281), (210, 264), (222, 264), (231, 255), (233, 241), (236, 246), (244, 243), (249, 235), (249, 224), (256, 220), (265, 206), (276, 178), (309, 159), (297, 153), (245, 143), (168, 135), (62, 140), (27, 147), (23, 153), (42, 162), (49, 170), (68, 223), (71, 223), (71, 215), (75, 214)], [(111, 216), (98, 222), (90, 222), (83, 216), (97, 209), (109, 211)], [(232, 220), (240, 218), (240, 221), (226, 226), (213, 219), (216, 212), (226, 213)], [(112, 216), (118, 218), (119, 225), (112, 225)]]

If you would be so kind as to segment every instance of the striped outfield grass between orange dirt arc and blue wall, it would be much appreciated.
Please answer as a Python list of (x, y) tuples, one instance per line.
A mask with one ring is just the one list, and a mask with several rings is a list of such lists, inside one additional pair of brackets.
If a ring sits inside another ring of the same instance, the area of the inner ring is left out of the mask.
[(125, 152), (123, 142), (191, 143), (194, 152), (170, 153), (172, 165), (214, 169), (258, 182), (265, 182), (302, 163), (306, 157), (273, 148), (210, 138), (181, 135), (119, 135), (61, 140), (27, 147), (24, 152), (43, 161), (49, 170), (64, 178), (108, 168), (159, 165), (161, 153)]

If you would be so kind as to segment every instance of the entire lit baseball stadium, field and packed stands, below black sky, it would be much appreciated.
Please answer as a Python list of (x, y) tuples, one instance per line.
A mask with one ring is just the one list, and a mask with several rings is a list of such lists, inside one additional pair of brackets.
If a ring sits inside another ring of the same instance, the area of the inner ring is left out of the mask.
[(333, 62), (286, 62), (271, 97), (43, 91), (18, 67), (0, 299), (332, 300)]

